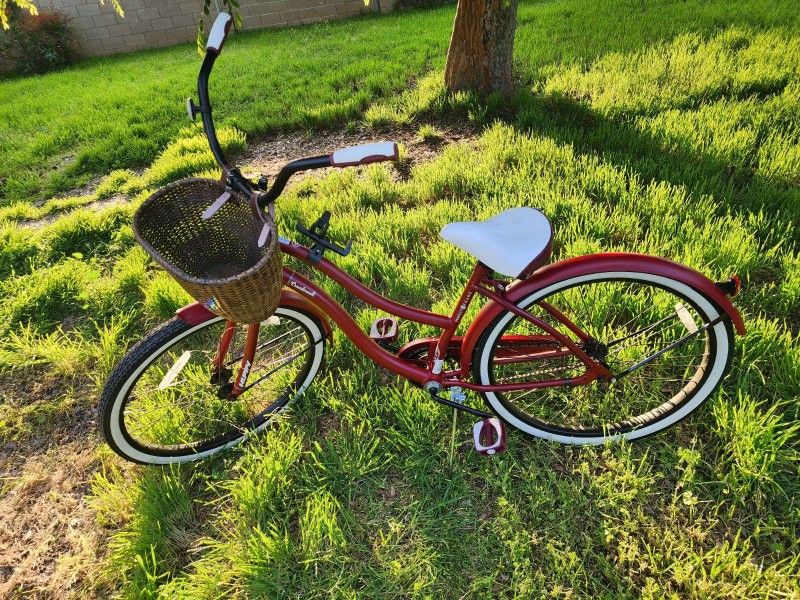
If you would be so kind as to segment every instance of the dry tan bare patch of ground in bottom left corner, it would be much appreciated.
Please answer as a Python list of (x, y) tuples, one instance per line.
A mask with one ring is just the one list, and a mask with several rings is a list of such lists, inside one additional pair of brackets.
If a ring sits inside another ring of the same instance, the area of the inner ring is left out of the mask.
[[(0, 391), (20, 407), (94, 398), (88, 383), (76, 385), (33, 369), (4, 377)], [(99, 466), (95, 409), (84, 400), (41, 415), (48, 421), (0, 445), (0, 598), (83, 598), (102, 553), (86, 501)]]

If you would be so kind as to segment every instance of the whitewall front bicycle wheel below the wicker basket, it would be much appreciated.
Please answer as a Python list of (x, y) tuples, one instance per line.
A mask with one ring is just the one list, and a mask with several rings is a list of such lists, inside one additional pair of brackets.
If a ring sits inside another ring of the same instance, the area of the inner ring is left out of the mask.
[[(246, 325), (220, 317), (199, 325), (167, 321), (114, 368), (100, 401), (109, 446), (142, 464), (187, 462), (240, 442), (266, 427), (319, 372), (325, 331), (313, 315), (279, 307), (261, 324), (247, 385), (230, 393), (243, 356)], [(215, 360), (217, 359), (217, 360)]]

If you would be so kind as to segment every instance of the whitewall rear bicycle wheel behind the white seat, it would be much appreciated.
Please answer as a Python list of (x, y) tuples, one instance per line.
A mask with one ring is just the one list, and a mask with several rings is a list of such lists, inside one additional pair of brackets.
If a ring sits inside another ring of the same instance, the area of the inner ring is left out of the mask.
[(507, 423), (566, 444), (642, 438), (685, 418), (720, 385), (733, 331), (707, 296), (668, 277), (592, 273), (517, 303), (568, 336), (614, 375), (571, 383), (586, 365), (527, 319), (501, 313), (472, 357), (483, 385), (561, 381), (556, 387), (485, 392)]

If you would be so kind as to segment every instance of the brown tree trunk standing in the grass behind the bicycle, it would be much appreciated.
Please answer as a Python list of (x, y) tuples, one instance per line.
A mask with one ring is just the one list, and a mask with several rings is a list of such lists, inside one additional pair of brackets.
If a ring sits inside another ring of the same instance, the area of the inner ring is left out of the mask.
[(458, 0), (447, 51), (448, 90), (511, 93), (517, 0)]

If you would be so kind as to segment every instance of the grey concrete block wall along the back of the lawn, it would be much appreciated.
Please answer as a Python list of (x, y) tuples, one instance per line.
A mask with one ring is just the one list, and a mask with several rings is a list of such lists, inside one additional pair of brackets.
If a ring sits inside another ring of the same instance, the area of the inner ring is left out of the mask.
[[(83, 54), (102, 56), (172, 46), (197, 36), (201, 0), (122, 0), (125, 16), (99, 0), (36, 0), (42, 9), (70, 17)], [(381, 8), (393, 2), (383, 0)], [(212, 14), (214, 4), (212, 3)], [(364, 0), (241, 0), (244, 29), (261, 29), (341, 19), (373, 10)]]

